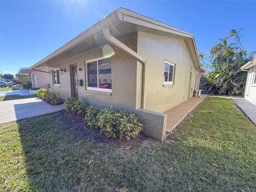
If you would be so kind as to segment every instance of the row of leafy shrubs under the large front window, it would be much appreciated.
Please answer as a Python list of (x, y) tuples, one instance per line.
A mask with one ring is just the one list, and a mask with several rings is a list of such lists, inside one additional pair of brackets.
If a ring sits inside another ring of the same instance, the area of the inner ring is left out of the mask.
[(135, 138), (141, 131), (142, 124), (133, 113), (107, 108), (99, 110), (94, 105), (86, 107), (77, 98), (67, 98), (64, 105), (67, 111), (83, 115), (90, 127), (100, 129), (106, 137), (129, 140)]

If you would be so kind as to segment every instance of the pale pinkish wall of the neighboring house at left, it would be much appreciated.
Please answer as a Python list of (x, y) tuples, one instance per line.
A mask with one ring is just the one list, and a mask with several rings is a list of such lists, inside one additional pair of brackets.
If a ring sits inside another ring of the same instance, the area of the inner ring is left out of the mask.
[[(39, 68), (38, 70), (49, 72), (49, 68)], [(33, 79), (33, 76), (35, 79)], [(49, 73), (44, 73), (41, 71), (36, 71), (31, 69), (30, 79), (33, 84), (33, 87), (49, 88), (49, 83), (50, 83)]]

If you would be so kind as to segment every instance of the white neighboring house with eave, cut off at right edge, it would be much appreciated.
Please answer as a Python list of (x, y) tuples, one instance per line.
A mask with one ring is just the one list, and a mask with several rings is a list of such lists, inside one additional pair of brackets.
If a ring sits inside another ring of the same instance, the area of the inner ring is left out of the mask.
[(244, 98), (256, 104), (256, 57), (247, 62), (241, 69), (248, 71)]

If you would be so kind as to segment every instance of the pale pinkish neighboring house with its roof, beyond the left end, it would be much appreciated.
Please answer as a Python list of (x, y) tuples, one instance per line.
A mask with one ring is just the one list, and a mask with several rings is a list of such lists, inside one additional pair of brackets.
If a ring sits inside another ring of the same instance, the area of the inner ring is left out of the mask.
[[(51, 69), (49, 67), (20, 68), (16, 76), (27, 75), (26, 81), (32, 83), (32, 87), (49, 88)], [(22, 82), (24, 83), (24, 82)]]

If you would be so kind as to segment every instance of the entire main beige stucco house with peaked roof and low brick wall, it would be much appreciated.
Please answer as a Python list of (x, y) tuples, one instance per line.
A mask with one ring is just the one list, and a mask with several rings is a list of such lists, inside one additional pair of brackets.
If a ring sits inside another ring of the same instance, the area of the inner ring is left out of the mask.
[(166, 137), (164, 111), (193, 97), (200, 65), (193, 34), (120, 8), (35, 67), (51, 68), (51, 91), (100, 108), (135, 111), (143, 131)]

